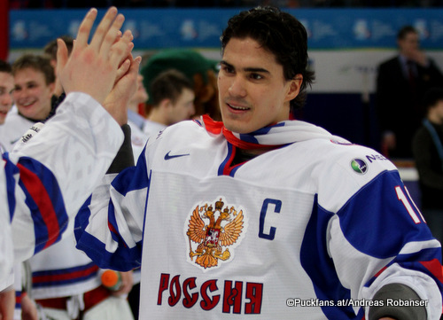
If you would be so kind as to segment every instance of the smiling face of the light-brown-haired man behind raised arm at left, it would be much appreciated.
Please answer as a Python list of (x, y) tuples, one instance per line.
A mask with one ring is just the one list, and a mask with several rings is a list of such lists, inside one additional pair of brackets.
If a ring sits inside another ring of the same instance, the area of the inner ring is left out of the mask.
[(44, 120), (51, 111), (54, 84), (46, 84), (44, 74), (32, 67), (14, 75), (14, 99), (19, 113), (34, 120)]

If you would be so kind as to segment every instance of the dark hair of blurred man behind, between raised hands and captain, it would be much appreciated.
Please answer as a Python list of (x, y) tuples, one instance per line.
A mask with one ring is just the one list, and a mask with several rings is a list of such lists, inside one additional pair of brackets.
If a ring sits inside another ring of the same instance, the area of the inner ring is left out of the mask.
[(183, 89), (194, 90), (192, 82), (176, 69), (168, 69), (154, 78), (151, 82), (150, 96), (152, 106), (157, 106), (163, 99), (171, 99), (175, 104)]

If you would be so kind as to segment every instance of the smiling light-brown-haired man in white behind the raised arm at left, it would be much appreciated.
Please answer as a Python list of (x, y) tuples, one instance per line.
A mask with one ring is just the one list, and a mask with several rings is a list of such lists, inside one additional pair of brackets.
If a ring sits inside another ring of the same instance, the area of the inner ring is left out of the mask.
[(35, 122), (44, 121), (51, 113), (55, 86), (51, 62), (40, 56), (21, 56), (12, 64), (12, 74), (16, 108), (6, 118), (0, 135), (0, 141), (7, 151)]

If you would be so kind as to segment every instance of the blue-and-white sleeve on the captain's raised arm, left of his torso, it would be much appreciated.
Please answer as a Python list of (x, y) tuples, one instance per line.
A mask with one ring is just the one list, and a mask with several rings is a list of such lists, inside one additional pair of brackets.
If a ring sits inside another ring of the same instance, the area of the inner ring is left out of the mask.
[(100, 268), (128, 271), (140, 267), (148, 187), (142, 152), (136, 167), (106, 175), (76, 216), (77, 248)]

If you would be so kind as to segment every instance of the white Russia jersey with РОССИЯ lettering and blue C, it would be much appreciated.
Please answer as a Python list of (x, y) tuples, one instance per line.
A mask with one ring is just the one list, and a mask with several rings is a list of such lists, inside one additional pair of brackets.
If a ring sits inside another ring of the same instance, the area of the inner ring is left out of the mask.
[(140, 319), (363, 319), (392, 283), (439, 319), (440, 245), (397, 169), (291, 126), (291, 144), (238, 165), (223, 135), (168, 127), (105, 177), (76, 217), (77, 246), (102, 268), (141, 263)]

